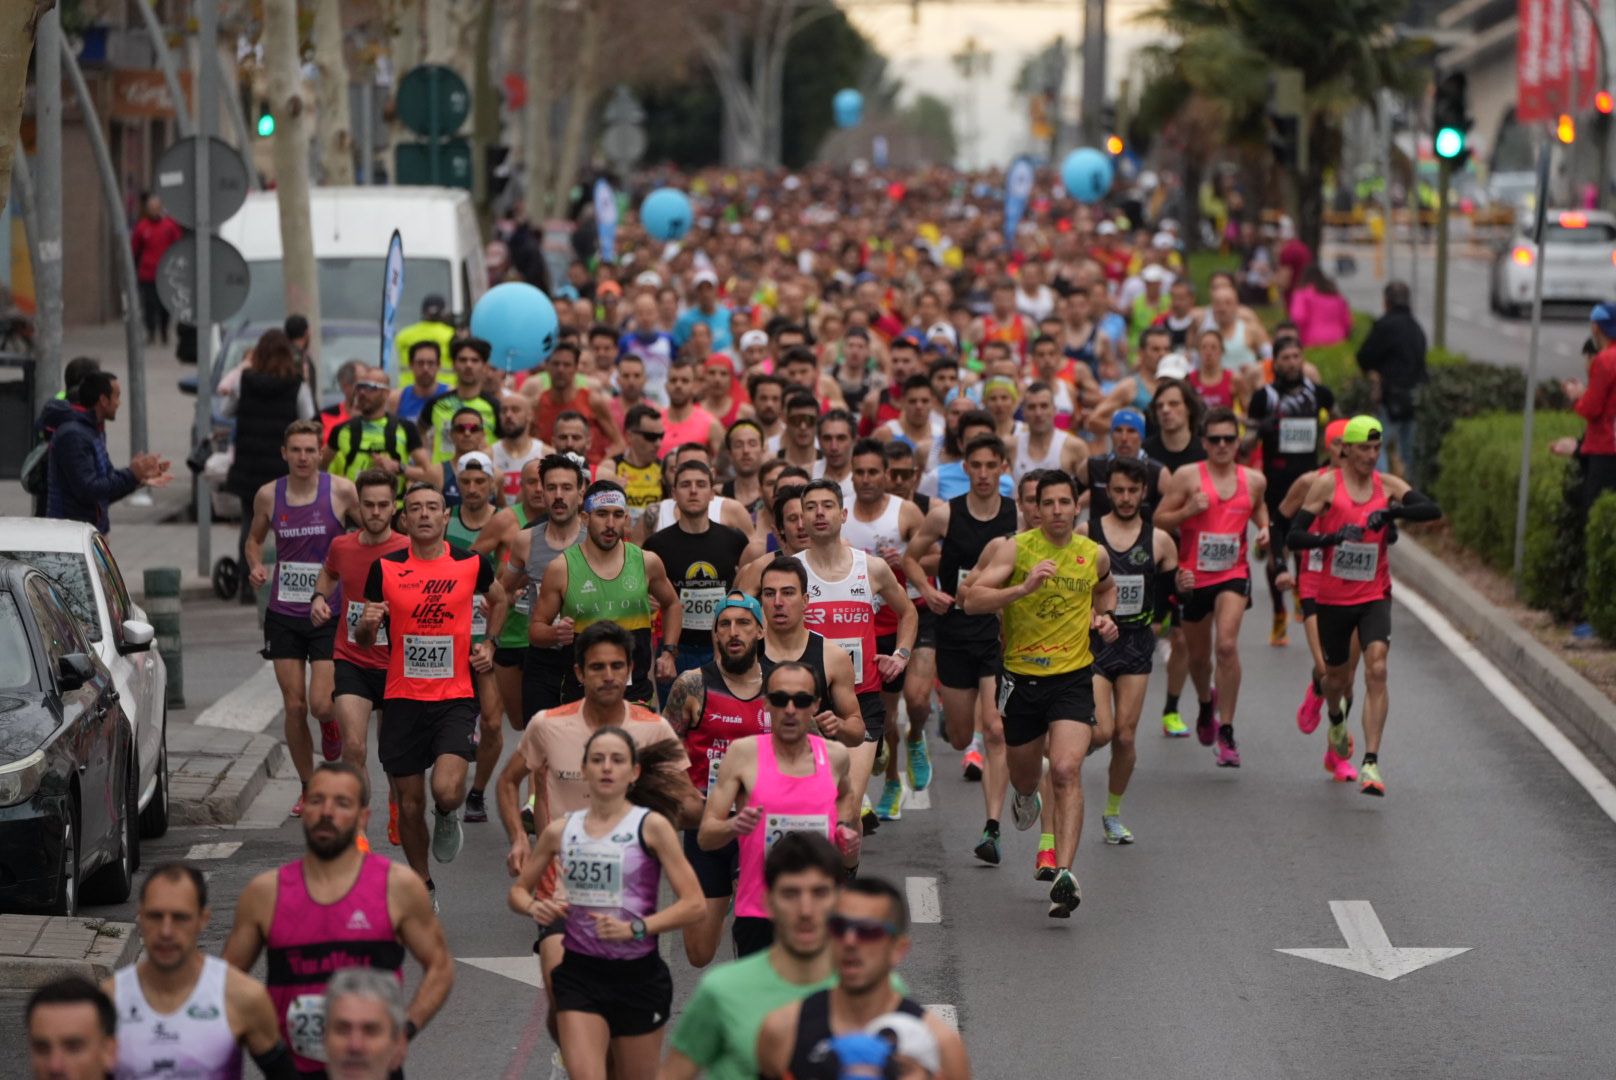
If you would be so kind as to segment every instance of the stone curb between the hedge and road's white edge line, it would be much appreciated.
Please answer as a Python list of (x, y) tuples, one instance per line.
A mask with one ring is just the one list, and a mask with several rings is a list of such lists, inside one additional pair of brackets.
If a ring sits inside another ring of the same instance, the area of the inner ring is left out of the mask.
[(1417, 542), (1399, 543), (1396, 561), (1399, 589), (1435, 605), (1527, 697), (1616, 760), (1616, 703)]

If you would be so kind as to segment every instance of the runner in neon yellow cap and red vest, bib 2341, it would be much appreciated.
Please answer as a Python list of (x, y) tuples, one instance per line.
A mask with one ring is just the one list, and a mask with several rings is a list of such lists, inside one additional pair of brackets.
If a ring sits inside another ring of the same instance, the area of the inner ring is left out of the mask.
[[(1319, 645), (1324, 650), (1324, 698), (1330, 716), (1330, 750), (1351, 758), (1343, 698), (1351, 689), (1353, 637), (1364, 650), (1364, 761), (1359, 791), (1385, 795), (1380, 737), (1387, 729), (1387, 653), (1391, 650), (1391, 567), (1388, 530), (1395, 521), (1437, 521), (1441, 508), (1403, 477), (1375, 469), (1380, 420), (1356, 416), (1341, 435), (1345, 459), (1322, 474), (1296, 514), (1291, 546), (1327, 548), (1319, 579)], [(1317, 532), (1312, 532), (1317, 521)]]

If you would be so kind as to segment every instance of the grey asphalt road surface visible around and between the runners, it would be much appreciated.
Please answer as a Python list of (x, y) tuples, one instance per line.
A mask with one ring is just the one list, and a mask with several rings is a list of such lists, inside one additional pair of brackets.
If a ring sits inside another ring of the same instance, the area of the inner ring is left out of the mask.
[[(1134, 846), (1100, 842), (1105, 752), (1089, 761), (1084, 902), (1070, 922), (1044, 913), (1031, 834), (1007, 823), (999, 868), (971, 857), (981, 797), (936, 739), (931, 805), (866, 841), (865, 873), (903, 880), (936, 920), (916, 925), (903, 973), (918, 999), (957, 1010), (976, 1075), (1616, 1075), (1613, 821), (1403, 605), (1388, 795), (1328, 783), (1322, 732), (1304, 737), (1293, 723), (1301, 635), (1275, 650), (1265, 624), (1259, 595), (1243, 635), (1241, 770), (1214, 768), (1194, 739), (1160, 737), (1160, 676), (1123, 805)], [(202, 664), (207, 647), (197, 650)], [(373, 779), (383, 792), (380, 771)], [(289, 795), (271, 787), (241, 828), (175, 829), (147, 846), (147, 865), (223, 854), (205, 862), (207, 947), (223, 943), (246, 881), (299, 854), (299, 826), (281, 816)], [(372, 836), (391, 850), (383, 800)], [(449, 1004), (410, 1051), (410, 1075), (549, 1075), (532, 928), (504, 907), (504, 847), (496, 823), (467, 826), (461, 859), (436, 868), (461, 964)], [(1467, 951), (1396, 981), (1278, 952), (1345, 947), (1332, 901), (1367, 901), (1393, 946)], [(684, 1002), (696, 977), (677, 941), (664, 954)], [(18, 1030), (19, 1007), (0, 994), (0, 1030)], [(0, 1057), (0, 1075), (24, 1075), (19, 1065)]]

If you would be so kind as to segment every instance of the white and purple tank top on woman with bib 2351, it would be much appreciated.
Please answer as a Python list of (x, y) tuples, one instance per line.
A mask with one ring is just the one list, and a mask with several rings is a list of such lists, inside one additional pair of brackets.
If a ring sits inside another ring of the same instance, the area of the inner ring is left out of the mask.
[(588, 810), (574, 810), (561, 831), (561, 884), (567, 896), (567, 952), (603, 960), (635, 960), (656, 952), (656, 938), (601, 941), (591, 912), (622, 920), (645, 918), (656, 910), (656, 886), (663, 863), (645, 847), (645, 807), (633, 807), (606, 836), (583, 831)]

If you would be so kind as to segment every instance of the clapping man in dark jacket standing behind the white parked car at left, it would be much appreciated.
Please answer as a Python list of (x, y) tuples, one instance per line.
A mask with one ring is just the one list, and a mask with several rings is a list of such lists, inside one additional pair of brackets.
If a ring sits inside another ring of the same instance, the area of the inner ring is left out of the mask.
[(110, 504), (142, 483), (160, 488), (173, 480), (168, 461), (157, 454), (136, 454), (128, 469), (112, 467), (107, 420), (118, 417), (118, 378), (110, 372), (90, 372), (79, 383), (73, 412), (61, 417), (50, 438), (45, 517), (82, 521), (107, 532)]

